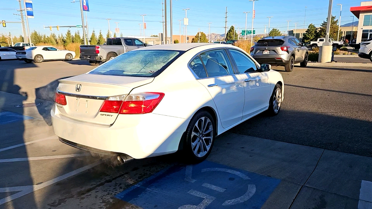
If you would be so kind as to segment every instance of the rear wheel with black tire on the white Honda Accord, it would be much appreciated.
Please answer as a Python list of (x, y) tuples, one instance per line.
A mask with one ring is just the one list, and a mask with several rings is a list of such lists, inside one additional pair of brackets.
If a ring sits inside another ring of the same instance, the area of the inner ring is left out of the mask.
[(197, 112), (192, 117), (186, 129), (183, 147), (187, 163), (200, 163), (208, 157), (214, 144), (215, 130), (214, 119), (209, 112)]

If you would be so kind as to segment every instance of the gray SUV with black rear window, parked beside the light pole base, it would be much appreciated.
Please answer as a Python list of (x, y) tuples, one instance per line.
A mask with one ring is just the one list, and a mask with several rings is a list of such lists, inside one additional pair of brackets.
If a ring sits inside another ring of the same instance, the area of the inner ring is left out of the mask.
[(285, 71), (292, 72), (296, 63), (306, 67), (309, 51), (294, 36), (270, 36), (251, 47), (251, 56), (260, 64), (284, 65)]

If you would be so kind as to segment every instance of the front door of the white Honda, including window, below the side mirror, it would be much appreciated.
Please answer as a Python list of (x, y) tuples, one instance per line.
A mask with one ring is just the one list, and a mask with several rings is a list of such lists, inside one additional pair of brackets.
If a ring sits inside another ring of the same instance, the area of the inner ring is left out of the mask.
[(259, 66), (248, 55), (237, 49), (228, 49), (238, 75), (244, 81), (243, 118), (267, 109), (269, 106), (270, 82), (267, 72), (261, 72)]

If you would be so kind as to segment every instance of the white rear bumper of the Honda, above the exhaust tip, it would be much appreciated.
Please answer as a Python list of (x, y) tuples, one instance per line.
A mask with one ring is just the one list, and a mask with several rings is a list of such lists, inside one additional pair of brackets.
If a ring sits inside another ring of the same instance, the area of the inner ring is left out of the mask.
[(55, 108), (51, 110), (51, 119), (55, 135), (71, 142), (66, 144), (136, 159), (176, 152), (190, 121), (154, 113), (119, 115), (108, 127), (67, 118)]

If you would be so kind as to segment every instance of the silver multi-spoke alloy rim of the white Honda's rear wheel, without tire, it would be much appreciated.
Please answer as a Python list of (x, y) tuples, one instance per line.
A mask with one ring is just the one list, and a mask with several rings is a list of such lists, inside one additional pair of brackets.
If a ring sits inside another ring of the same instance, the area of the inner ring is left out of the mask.
[(200, 118), (192, 130), (191, 148), (196, 157), (203, 157), (211, 148), (213, 141), (213, 125), (207, 117)]

